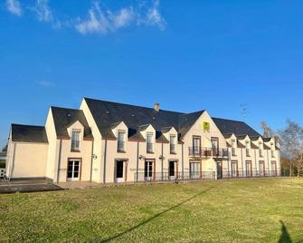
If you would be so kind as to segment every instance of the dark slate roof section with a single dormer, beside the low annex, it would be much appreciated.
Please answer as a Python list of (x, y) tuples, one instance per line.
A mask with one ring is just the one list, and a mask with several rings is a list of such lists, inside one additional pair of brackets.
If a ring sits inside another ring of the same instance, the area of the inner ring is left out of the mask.
[(53, 106), (51, 109), (58, 138), (70, 138), (67, 129), (76, 121), (79, 121), (84, 127), (84, 139), (90, 140), (93, 138), (89, 123), (86, 121), (85, 115), (81, 110)]

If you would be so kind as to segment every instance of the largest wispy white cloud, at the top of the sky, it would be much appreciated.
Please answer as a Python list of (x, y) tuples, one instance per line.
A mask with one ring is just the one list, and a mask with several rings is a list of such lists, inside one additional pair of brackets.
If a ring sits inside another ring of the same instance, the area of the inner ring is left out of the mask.
[(159, 1), (153, 0), (150, 6), (145, 2), (139, 2), (137, 8), (128, 6), (116, 12), (104, 11), (99, 2), (95, 2), (89, 10), (87, 19), (79, 19), (75, 27), (80, 34), (109, 34), (131, 24), (154, 25), (164, 30), (166, 20), (159, 12)]

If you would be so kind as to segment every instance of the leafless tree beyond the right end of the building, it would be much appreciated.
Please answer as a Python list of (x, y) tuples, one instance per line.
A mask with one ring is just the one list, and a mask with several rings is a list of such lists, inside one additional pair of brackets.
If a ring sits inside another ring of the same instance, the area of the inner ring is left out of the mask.
[[(281, 151), (290, 161), (295, 163), (298, 177), (303, 170), (303, 128), (294, 121), (287, 121), (287, 127), (279, 131)], [(290, 162), (290, 176), (291, 176)]]

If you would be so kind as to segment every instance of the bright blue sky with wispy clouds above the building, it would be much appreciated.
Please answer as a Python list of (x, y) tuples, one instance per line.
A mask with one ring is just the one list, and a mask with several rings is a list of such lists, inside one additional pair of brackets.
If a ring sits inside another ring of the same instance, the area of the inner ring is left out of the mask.
[(302, 124), (302, 1), (0, 0), (0, 145), (82, 97)]

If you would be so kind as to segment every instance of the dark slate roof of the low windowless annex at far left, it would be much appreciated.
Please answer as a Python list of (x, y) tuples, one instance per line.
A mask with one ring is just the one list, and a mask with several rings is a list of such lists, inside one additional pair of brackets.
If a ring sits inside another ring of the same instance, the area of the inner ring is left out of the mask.
[(43, 126), (12, 124), (12, 141), (48, 143)]

